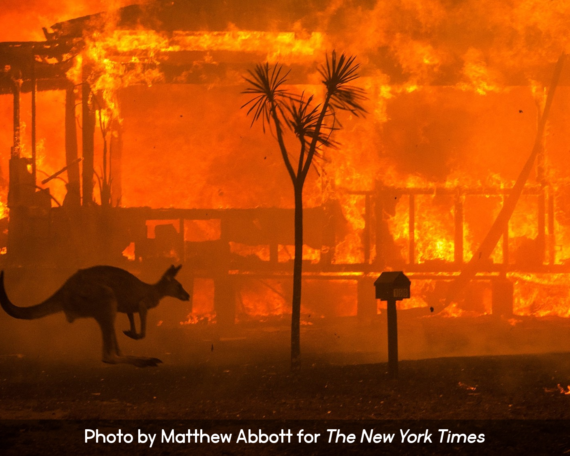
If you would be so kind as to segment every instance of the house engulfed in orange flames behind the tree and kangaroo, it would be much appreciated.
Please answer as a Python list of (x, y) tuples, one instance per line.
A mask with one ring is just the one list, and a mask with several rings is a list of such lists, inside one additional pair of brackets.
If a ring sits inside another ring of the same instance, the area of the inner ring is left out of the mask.
[[(243, 76), (279, 62), (318, 97), (337, 49), (361, 64), (368, 115), (344, 115), (309, 174), (304, 321), (375, 315), (386, 269), (419, 313), (568, 317), (570, 9), (551, 3), (157, 1), (0, 43), (3, 267), (183, 263), (181, 322), (287, 314), (293, 192), (240, 109)], [(500, 241), (447, 305), (533, 144)]]

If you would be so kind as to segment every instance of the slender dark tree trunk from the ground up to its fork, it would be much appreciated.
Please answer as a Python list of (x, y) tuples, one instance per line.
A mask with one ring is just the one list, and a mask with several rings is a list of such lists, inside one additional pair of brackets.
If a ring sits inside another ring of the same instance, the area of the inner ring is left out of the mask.
[(295, 260), (291, 315), (291, 368), (301, 364), (301, 280), (303, 274), (303, 183), (295, 183)]

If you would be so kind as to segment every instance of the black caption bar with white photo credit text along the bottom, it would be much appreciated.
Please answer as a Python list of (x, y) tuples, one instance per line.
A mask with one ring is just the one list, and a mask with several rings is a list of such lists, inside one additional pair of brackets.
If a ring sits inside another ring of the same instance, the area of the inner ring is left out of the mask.
[(2, 454), (562, 454), (570, 421), (0, 421)]

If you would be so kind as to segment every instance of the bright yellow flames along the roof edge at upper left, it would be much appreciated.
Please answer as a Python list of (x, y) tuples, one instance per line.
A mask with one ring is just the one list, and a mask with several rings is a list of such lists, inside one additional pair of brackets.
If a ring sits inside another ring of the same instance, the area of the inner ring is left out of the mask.
[[(84, 36), (85, 47), (75, 58), (75, 64), (67, 76), (76, 84), (83, 82), (84, 65), (91, 76), (87, 81), (94, 94), (101, 94), (103, 105), (98, 106), (103, 125), (120, 118), (116, 93), (133, 86), (162, 82), (164, 74), (159, 64), (168, 54), (182, 51), (206, 52), (195, 65), (215, 63), (210, 52), (267, 53), (270, 62), (306, 60), (313, 61), (323, 50), (323, 36), (312, 33), (308, 38), (295, 33), (271, 33), (256, 31), (228, 32), (174, 32), (171, 36), (153, 30), (116, 30), (107, 24), (103, 32), (95, 31)], [(183, 82), (183, 81), (180, 81)]]

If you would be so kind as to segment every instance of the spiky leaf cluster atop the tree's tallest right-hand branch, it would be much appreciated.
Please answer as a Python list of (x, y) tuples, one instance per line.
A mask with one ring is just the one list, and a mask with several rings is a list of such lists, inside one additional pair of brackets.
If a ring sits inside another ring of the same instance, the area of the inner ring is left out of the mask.
[(330, 58), (327, 56), (325, 65), (319, 68), (319, 73), (330, 96), (331, 107), (360, 116), (366, 113), (362, 105), (367, 99), (365, 91), (360, 87), (348, 85), (359, 77), (360, 65), (355, 63), (355, 60), (355, 56), (346, 57), (344, 54), (337, 58), (336, 52), (333, 51)]

